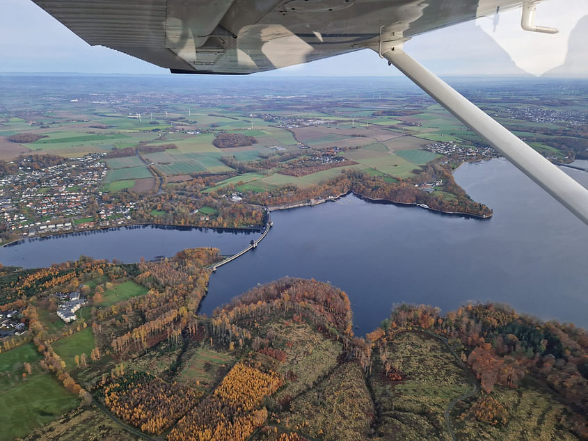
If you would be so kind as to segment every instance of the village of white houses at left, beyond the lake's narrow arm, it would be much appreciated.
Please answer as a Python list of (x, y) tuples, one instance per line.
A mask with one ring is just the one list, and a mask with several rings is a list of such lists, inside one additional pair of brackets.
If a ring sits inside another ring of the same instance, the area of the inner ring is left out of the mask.
[[(25, 157), (16, 173), (0, 177), (0, 216), (6, 230), (24, 237), (124, 225), (136, 202), (102, 200), (108, 173), (103, 153), (39, 167)], [(11, 163), (8, 163), (11, 164)]]

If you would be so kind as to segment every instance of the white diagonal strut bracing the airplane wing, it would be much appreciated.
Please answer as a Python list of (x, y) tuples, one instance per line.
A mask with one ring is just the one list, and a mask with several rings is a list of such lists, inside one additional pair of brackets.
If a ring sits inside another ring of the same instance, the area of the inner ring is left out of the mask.
[[(373, 49), (379, 51), (379, 48)], [(406, 77), (453, 113), (463, 124), (482, 136), (525, 175), (588, 225), (587, 189), (511, 134), (426, 67), (413, 60), (402, 50), (402, 46), (390, 45), (387, 49), (381, 52), (383, 58), (395, 65)]]

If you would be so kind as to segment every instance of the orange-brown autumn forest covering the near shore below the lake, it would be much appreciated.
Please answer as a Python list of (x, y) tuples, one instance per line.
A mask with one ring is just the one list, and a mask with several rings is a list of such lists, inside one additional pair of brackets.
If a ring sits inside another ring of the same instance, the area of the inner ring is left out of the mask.
[[(168, 440), (446, 439), (450, 429), (467, 440), (588, 436), (581, 328), (507, 305), (468, 303), (442, 315), (403, 304), (360, 337), (344, 291), (298, 278), (253, 287), (207, 317), (198, 306), (207, 266), (219, 259), (215, 248), (196, 248), (160, 262), (81, 257), (3, 268), (18, 297), (0, 309), (20, 310), (31, 331), (2, 354), (32, 344), (38, 367), (20, 364), (19, 381), (47, 371), (81, 406), (97, 400)], [(131, 282), (146, 293), (101, 306)], [(46, 311), (55, 310), (53, 293), (69, 289), (88, 297), (90, 313), (56, 328)], [(525, 406), (539, 419), (522, 417)]]

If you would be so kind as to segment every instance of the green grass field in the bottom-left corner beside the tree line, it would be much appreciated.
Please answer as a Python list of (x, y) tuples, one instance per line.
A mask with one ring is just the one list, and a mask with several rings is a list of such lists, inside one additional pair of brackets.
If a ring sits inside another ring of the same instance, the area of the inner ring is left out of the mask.
[(75, 408), (79, 399), (51, 374), (35, 374), (0, 394), (0, 440), (23, 437)]

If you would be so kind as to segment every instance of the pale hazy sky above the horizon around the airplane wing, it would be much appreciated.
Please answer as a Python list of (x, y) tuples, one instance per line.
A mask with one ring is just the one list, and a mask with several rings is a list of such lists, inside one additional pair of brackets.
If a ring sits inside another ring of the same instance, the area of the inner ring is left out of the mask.
[[(523, 31), (521, 10), (418, 35), (404, 50), (440, 75), (588, 77), (588, 1), (539, 4), (537, 24), (557, 35)], [(570, 49), (570, 50), (568, 50)], [(90, 47), (31, 0), (0, 1), (0, 72), (167, 74), (105, 47)], [(257, 76), (390, 76), (394, 67), (365, 49)]]

